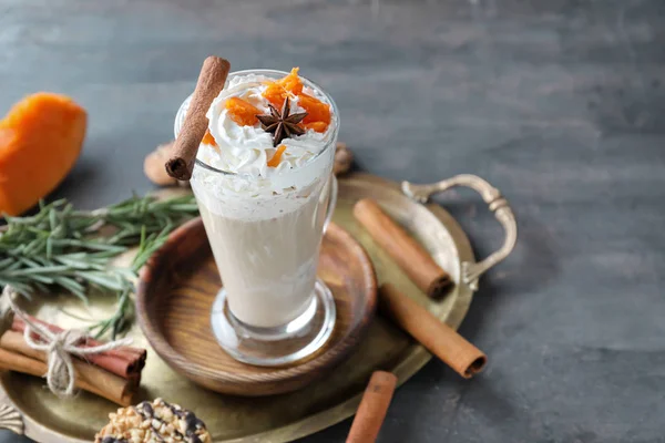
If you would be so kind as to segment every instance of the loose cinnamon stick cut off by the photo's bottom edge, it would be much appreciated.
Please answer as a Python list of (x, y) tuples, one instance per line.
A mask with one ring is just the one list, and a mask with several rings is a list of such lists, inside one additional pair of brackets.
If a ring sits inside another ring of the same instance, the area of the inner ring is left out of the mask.
[(376, 371), (371, 374), (346, 443), (372, 443), (377, 440), (396, 387), (397, 377), (390, 372)]

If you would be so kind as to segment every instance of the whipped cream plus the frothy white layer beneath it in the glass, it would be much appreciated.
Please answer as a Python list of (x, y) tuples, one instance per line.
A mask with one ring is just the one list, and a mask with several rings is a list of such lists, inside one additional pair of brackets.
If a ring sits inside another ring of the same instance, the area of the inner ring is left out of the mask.
[[(335, 158), (335, 147), (331, 145), (336, 142), (339, 125), (334, 112), (326, 132), (308, 130), (303, 135), (284, 138), (279, 144), (285, 145), (286, 150), (276, 167), (268, 166), (268, 159), (277, 151), (273, 146), (273, 135), (265, 132), (259, 123), (241, 126), (231, 120), (225, 102), (233, 96), (269, 113), (268, 102), (262, 96), (267, 87), (265, 83), (269, 80), (278, 79), (256, 73), (232, 74), (206, 114), (208, 130), (217, 147), (202, 143), (197, 159), (232, 173), (222, 174), (202, 166), (194, 168), (190, 183), (198, 204), (211, 213), (244, 220), (279, 217), (298, 210), (310, 198), (318, 198), (320, 189), (328, 183)], [(331, 105), (306, 80), (303, 79), (303, 83), (306, 94)], [(190, 101), (181, 106), (175, 122), (176, 136)], [(290, 111), (304, 111), (298, 106), (297, 99), (291, 101)]]

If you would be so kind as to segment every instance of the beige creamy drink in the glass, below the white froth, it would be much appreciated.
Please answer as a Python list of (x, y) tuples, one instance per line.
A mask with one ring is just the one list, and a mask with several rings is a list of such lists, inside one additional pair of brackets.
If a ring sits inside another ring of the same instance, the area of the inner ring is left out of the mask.
[(194, 185), (231, 311), (246, 324), (278, 327), (309, 307), (326, 215), (321, 182), (244, 217)]

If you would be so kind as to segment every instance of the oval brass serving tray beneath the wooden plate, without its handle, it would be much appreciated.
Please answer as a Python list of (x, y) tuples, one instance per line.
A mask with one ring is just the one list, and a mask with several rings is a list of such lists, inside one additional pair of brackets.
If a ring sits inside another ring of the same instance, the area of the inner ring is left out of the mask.
[[(334, 219), (365, 246), (375, 264), (379, 284), (395, 284), (457, 329), (467, 313), (480, 275), (469, 274), (469, 270), (478, 270), (479, 265), (487, 265), (487, 260), (475, 264), (469, 240), (457, 222), (439, 206), (423, 206), (406, 197), (400, 186), (393, 182), (356, 174), (341, 179), (339, 185), (339, 202)], [(408, 186), (406, 184), (406, 193), (423, 190)], [(424, 190), (443, 188), (440, 186)], [(377, 199), (450, 272), (456, 287), (443, 300), (426, 300), (424, 295), (354, 220), (351, 206), (362, 197)], [(113, 306), (112, 300), (108, 300), (92, 303), (86, 310), (73, 297), (60, 296), (33, 308), (33, 312), (44, 319), (74, 326), (75, 320), (61, 309), (72, 313), (85, 312), (85, 316), (90, 316), (92, 311), (92, 315), (102, 317)], [(137, 326), (132, 328), (130, 334), (134, 338), (135, 346), (150, 348)], [(151, 350), (143, 372), (141, 396), (162, 396), (196, 411), (207, 423), (215, 442), (288, 442), (351, 416), (374, 370), (393, 372), (401, 384), (430, 358), (427, 350), (378, 316), (367, 338), (337, 371), (301, 391), (258, 399), (217, 394), (177, 374)], [(10, 416), (7, 413), (12, 409), (17, 412), (14, 419), (2, 419)], [(58, 400), (44, 389), (43, 380), (13, 372), (0, 373), (0, 427), (11, 427), (38, 442), (90, 442), (95, 431), (106, 423), (109, 412), (115, 409), (114, 404), (86, 392), (80, 392), (70, 401)]]

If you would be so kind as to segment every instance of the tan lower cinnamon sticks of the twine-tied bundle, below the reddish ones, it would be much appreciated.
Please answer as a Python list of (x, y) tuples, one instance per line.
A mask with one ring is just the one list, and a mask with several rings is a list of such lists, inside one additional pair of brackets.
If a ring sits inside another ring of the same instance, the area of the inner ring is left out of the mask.
[[(72, 360), (76, 388), (123, 406), (134, 403), (137, 379), (123, 379), (81, 360)], [(47, 354), (30, 348), (22, 333), (10, 330), (0, 337), (0, 369), (43, 377), (48, 372)]]

